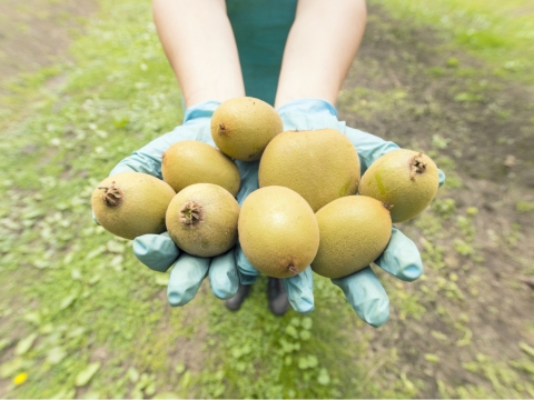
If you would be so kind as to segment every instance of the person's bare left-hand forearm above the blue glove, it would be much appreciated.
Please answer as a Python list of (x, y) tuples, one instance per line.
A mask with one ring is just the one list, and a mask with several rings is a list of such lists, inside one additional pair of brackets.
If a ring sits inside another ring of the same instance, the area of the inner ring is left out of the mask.
[(224, 0), (154, 0), (152, 11), (186, 107), (245, 96)]

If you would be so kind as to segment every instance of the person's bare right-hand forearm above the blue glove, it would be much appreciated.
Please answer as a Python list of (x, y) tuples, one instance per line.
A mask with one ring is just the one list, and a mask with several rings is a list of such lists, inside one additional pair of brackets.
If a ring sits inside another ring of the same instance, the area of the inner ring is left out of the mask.
[(365, 21), (365, 0), (300, 0), (284, 51), (275, 107), (305, 98), (335, 104)]

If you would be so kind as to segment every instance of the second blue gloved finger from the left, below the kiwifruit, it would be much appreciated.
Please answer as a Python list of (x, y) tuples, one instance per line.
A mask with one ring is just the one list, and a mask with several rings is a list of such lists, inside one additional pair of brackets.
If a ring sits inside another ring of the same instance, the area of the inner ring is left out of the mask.
[(197, 294), (211, 259), (184, 253), (170, 271), (167, 300), (170, 306), (185, 306)]

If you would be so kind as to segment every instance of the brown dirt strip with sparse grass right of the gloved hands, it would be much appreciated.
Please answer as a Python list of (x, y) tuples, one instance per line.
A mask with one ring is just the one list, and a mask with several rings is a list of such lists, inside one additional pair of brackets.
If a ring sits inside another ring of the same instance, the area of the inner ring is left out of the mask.
[(349, 126), (431, 152), (448, 172), (433, 214), (400, 227), (423, 252), (424, 279), (383, 274), (392, 318), (368, 329), (373, 357), (396, 349), (399, 359), (375, 378), (402, 371), (427, 398), (534, 396), (521, 383), (532, 376), (510, 367), (531, 366), (520, 343), (534, 346), (524, 283), (534, 274), (534, 214), (517, 211), (534, 204), (534, 88), (445, 44), (372, 7), (342, 94)]

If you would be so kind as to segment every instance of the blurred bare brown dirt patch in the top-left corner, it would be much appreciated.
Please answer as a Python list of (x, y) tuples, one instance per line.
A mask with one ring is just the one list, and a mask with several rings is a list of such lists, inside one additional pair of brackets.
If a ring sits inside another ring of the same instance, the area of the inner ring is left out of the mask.
[(0, 87), (65, 58), (72, 36), (96, 9), (96, 0), (1, 1)]

